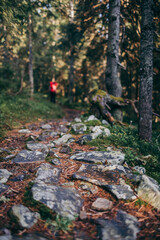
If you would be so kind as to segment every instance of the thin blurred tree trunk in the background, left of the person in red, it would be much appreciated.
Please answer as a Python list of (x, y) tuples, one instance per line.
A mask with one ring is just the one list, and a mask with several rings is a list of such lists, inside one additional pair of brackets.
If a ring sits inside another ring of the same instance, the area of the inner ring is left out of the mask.
[(32, 53), (32, 17), (29, 14), (28, 18), (28, 32), (29, 32), (29, 82), (30, 82), (30, 96), (33, 98), (34, 93), (34, 78), (33, 78), (33, 53)]

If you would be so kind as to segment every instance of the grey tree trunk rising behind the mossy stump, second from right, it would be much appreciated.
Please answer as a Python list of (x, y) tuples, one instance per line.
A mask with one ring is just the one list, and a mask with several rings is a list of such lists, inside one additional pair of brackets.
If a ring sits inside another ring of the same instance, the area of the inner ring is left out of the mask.
[[(121, 86), (121, 82), (119, 79), (119, 72), (118, 72), (119, 31), (120, 31), (120, 0), (110, 0), (109, 1), (106, 87), (107, 87), (108, 93), (115, 97), (121, 97), (122, 95), (122, 86)], [(121, 115), (119, 110), (118, 112), (117, 112), (118, 115)], [(121, 118), (121, 117), (118, 117), (118, 118)]]

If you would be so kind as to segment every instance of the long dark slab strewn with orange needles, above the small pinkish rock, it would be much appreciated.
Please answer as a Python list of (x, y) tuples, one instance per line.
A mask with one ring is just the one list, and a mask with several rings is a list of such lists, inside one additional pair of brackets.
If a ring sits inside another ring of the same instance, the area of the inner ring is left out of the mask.
[[(123, 181), (119, 182), (120, 176), (121, 174), (123, 175), (124, 172), (116, 167), (82, 164), (79, 170), (72, 175), (72, 178), (76, 180), (88, 181), (92, 184), (100, 186), (108, 192), (111, 192), (117, 199), (136, 199), (131, 187), (125, 184)], [(122, 166), (119, 167), (121, 168)]]

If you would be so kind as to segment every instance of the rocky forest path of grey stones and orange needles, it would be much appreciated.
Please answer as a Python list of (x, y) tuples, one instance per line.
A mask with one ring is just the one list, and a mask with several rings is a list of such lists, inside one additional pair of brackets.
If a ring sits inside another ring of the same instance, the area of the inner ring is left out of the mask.
[[(137, 166), (135, 174), (118, 149), (84, 145), (110, 135), (107, 124), (88, 127), (92, 120), (30, 125), (15, 132), (25, 147), (0, 149), (0, 204), (7, 211), (0, 214), (0, 240), (22, 239), (18, 233), (26, 240), (138, 239), (144, 215), (126, 206), (140, 197), (160, 210), (160, 187), (145, 169)], [(30, 205), (24, 200), (29, 183)], [(32, 201), (55, 219), (43, 220)]]

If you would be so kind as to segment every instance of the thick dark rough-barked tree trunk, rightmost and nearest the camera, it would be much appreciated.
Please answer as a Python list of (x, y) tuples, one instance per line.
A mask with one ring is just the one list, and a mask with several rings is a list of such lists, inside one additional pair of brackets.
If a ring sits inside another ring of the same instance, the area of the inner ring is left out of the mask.
[(141, 3), (139, 136), (152, 139), (153, 0)]

